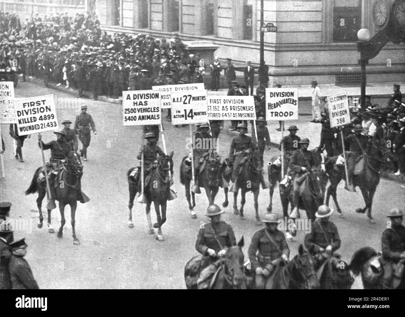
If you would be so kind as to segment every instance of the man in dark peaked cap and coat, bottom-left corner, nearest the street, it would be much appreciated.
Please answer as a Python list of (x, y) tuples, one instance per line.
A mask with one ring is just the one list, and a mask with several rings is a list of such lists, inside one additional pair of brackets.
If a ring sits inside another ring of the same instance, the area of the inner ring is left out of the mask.
[(39, 289), (31, 268), (24, 259), (27, 254), (25, 238), (10, 243), (13, 249), (9, 262), (9, 271), (12, 289)]

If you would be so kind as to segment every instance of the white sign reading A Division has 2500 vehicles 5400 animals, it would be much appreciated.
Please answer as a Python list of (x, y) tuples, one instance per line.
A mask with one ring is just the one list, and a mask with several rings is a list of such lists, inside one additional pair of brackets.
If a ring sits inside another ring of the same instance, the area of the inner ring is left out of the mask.
[(123, 91), (122, 111), (124, 126), (161, 124), (160, 91)]

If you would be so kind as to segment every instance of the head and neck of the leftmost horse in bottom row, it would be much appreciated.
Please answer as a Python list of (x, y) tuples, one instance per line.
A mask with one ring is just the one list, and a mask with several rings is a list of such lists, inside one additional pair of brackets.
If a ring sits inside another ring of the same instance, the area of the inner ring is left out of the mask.
[(242, 252), (244, 245), (244, 238), (238, 242), (237, 246), (232, 246), (226, 254), (224, 259), (224, 274), (232, 288), (245, 289), (246, 288), (246, 276), (243, 273), (243, 262), (245, 257)]

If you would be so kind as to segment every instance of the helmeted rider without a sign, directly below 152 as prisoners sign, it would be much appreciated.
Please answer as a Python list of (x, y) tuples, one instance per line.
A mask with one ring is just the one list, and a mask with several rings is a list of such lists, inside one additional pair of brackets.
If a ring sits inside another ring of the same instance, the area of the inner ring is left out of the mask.
[[(237, 183), (237, 178), (239, 176), (239, 167), (242, 159), (245, 157), (245, 154), (253, 154), (254, 151), (257, 150), (258, 145), (253, 145), (252, 138), (246, 135), (247, 133), (247, 126), (244, 123), (241, 123), (237, 127), (239, 131), (239, 135), (232, 138), (230, 149), (229, 149), (229, 162), (233, 164), (233, 172), (232, 172), (232, 180), (234, 184)], [(252, 155), (254, 162), (256, 163), (256, 167), (258, 173), (260, 174), (260, 183), (262, 184), (262, 188), (266, 189), (269, 188), (269, 185), (264, 181), (264, 177), (262, 175), (262, 167), (256, 160), (256, 156)]]

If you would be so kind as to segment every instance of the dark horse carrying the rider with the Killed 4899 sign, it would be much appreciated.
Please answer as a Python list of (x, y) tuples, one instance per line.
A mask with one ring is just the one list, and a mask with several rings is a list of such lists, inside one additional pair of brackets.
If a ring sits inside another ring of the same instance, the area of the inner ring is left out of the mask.
[[(38, 228), (42, 228), (44, 217), (42, 215), (42, 201), (47, 193), (46, 182), (39, 182), (38, 177), (40, 176), (43, 167), (38, 167), (32, 178), (30, 187), (25, 191), (26, 195), (34, 194), (38, 192), (38, 198), (36, 199), (36, 205), (39, 211), (39, 222)], [(59, 201), (59, 211), (60, 211), (60, 228), (58, 231), (58, 238), (63, 236), (63, 226), (66, 223), (65, 220), (65, 207), (70, 206), (71, 224), (72, 224), (72, 236), (73, 244), (80, 244), (79, 239), (76, 237), (75, 232), (75, 213), (77, 208), (77, 200), (83, 199), (80, 191), (80, 181), (83, 176), (83, 164), (81, 163), (80, 156), (77, 152), (72, 151), (67, 156), (67, 163), (64, 164), (62, 169), (59, 171), (63, 173), (63, 178), (59, 186), (55, 187), (55, 200)], [(55, 182), (58, 181), (58, 176), (55, 178)], [(62, 186), (63, 185), (63, 186)], [(81, 200), (82, 201), (82, 200)], [(87, 200), (88, 201), (88, 200)], [(48, 209), (48, 232), (54, 233), (55, 230), (51, 225), (51, 210)]]

